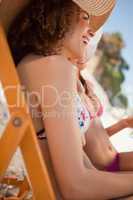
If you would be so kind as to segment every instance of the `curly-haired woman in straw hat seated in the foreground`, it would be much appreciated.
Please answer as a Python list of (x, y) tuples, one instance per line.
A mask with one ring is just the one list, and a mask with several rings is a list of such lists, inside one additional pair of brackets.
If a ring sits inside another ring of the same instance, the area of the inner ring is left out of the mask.
[[(89, 40), (105, 22), (114, 3), (31, 0), (9, 30), (21, 82), (30, 92), (31, 116), (39, 135), (45, 126), (43, 138), (64, 199), (107, 200), (133, 194), (133, 173), (100, 170), (117, 153), (99, 119), (91, 120), (85, 105), (87, 97), (80, 95), (78, 81), (78, 61), (85, 57)], [(84, 124), (80, 119), (83, 110)], [(90, 146), (86, 146), (81, 132)]]

